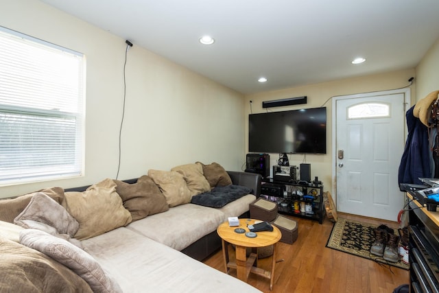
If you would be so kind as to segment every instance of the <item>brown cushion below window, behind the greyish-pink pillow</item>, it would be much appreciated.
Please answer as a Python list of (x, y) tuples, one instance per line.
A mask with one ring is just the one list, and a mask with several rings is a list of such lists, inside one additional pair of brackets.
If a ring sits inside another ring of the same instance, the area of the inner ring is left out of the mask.
[[(51, 187), (47, 189), (41, 189), (38, 192), (43, 192), (50, 196), (56, 202), (61, 203), (64, 199), (64, 189), (61, 187)], [(35, 192), (32, 194), (26, 194), (24, 196), (19, 196), (18, 198), (8, 198), (5, 200), (0, 200), (0, 221), (13, 223), (16, 218), (27, 204), (29, 204), (32, 196), (34, 196)]]

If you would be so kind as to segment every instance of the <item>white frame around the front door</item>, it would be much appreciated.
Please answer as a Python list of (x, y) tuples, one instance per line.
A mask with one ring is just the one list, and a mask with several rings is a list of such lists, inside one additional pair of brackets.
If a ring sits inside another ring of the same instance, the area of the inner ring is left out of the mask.
[[(374, 97), (378, 95), (393, 95), (396, 93), (402, 93), (404, 95), (404, 117), (405, 113), (407, 113), (407, 110), (409, 107), (408, 105), (411, 105), (411, 97), (410, 97), (410, 86), (407, 86), (405, 88), (401, 89), (393, 89), (389, 91), (373, 91), (370, 93), (357, 93), (353, 95), (337, 95), (332, 97), (332, 139), (331, 139), (331, 146), (332, 146), (332, 194), (333, 194), (333, 200), (335, 202), (335, 211), (337, 211), (337, 101), (340, 101), (342, 99), (356, 99), (359, 97)], [(405, 141), (407, 140), (407, 123), (404, 123), (404, 145)], [(402, 155), (402, 154), (401, 154)], [(395, 187), (396, 188), (396, 187)]]

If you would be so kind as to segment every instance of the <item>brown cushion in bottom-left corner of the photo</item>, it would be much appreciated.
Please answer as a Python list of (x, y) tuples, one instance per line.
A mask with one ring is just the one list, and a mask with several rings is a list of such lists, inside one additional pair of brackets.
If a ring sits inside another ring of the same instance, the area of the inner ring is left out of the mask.
[(3, 237), (0, 268), (1, 292), (93, 292), (86, 281), (58, 261)]

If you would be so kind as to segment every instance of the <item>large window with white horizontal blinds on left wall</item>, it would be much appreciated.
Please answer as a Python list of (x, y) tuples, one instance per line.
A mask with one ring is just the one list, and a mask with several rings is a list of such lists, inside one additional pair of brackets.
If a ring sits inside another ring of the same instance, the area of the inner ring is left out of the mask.
[(0, 27), (0, 185), (82, 174), (84, 66)]

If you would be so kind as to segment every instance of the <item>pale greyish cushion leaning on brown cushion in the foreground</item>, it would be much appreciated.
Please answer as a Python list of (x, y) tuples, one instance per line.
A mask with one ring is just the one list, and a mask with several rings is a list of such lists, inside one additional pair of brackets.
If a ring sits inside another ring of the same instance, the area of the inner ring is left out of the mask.
[(25, 229), (20, 233), (20, 242), (70, 268), (88, 283), (93, 292), (122, 292), (117, 282), (102, 270), (91, 255), (64, 239), (44, 231)]

